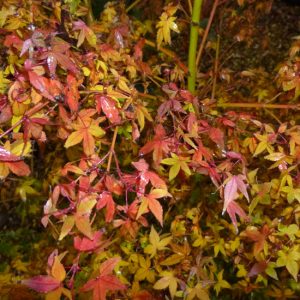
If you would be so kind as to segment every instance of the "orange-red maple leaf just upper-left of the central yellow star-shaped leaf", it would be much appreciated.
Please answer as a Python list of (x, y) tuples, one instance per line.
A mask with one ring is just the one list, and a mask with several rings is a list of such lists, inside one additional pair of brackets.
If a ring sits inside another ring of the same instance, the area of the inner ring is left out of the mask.
[(145, 155), (153, 151), (153, 160), (158, 165), (165, 153), (170, 152), (170, 139), (166, 137), (164, 127), (159, 124), (155, 127), (154, 138), (147, 142), (145, 146), (140, 149), (140, 155)]

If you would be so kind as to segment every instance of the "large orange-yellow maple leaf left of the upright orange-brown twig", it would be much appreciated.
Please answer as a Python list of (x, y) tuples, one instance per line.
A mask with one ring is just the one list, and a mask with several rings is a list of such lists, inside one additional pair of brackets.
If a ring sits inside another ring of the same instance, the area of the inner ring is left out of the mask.
[(105, 135), (105, 131), (98, 125), (99, 121), (91, 118), (95, 113), (96, 111), (93, 109), (80, 111), (77, 121), (72, 123), (75, 131), (68, 136), (65, 148), (77, 145), (83, 141), (84, 153), (88, 156), (95, 153), (94, 137)]

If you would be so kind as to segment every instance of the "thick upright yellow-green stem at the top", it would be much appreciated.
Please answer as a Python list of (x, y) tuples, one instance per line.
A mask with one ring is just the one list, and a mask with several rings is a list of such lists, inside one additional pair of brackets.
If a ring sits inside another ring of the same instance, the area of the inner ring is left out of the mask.
[(196, 87), (196, 55), (198, 46), (198, 27), (200, 23), (202, 0), (194, 0), (193, 12), (192, 12), (192, 23), (190, 31), (190, 45), (189, 45), (189, 58), (188, 58), (188, 90), (191, 93), (195, 93)]

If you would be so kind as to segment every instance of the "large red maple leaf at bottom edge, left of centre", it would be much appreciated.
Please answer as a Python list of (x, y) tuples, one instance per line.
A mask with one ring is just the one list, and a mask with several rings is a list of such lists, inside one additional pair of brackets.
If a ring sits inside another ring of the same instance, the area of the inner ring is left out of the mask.
[(93, 300), (106, 300), (108, 291), (118, 291), (126, 289), (120, 280), (112, 275), (113, 269), (119, 263), (120, 258), (110, 258), (100, 266), (99, 275), (95, 279), (90, 279), (82, 288), (82, 292), (93, 291)]

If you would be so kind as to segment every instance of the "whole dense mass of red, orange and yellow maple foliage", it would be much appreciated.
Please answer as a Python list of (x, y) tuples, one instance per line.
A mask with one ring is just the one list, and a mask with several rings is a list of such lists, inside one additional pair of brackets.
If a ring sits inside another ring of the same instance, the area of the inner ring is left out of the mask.
[[(42, 224), (57, 249), (47, 274), (22, 284), (46, 299), (293, 297), (299, 126), (224, 112), (208, 94), (186, 90), (186, 68), (163, 48), (187, 29), (176, 17), (184, 6), (168, 3), (143, 24), (109, 2), (87, 25), (79, 1), (25, 3), (0, 11), (0, 178), (34, 176), (29, 157), (45, 157)], [(154, 30), (158, 49), (149, 49)], [(291, 101), (298, 69), (296, 40), (277, 78)], [(227, 71), (219, 70), (219, 93)], [(257, 87), (261, 73), (244, 70), (239, 83)], [(209, 85), (211, 71), (204, 75), (199, 87)], [(259, 102), (277, 91), (262, 90)], [(35, 191), (24, 186), (25, 201)]]

